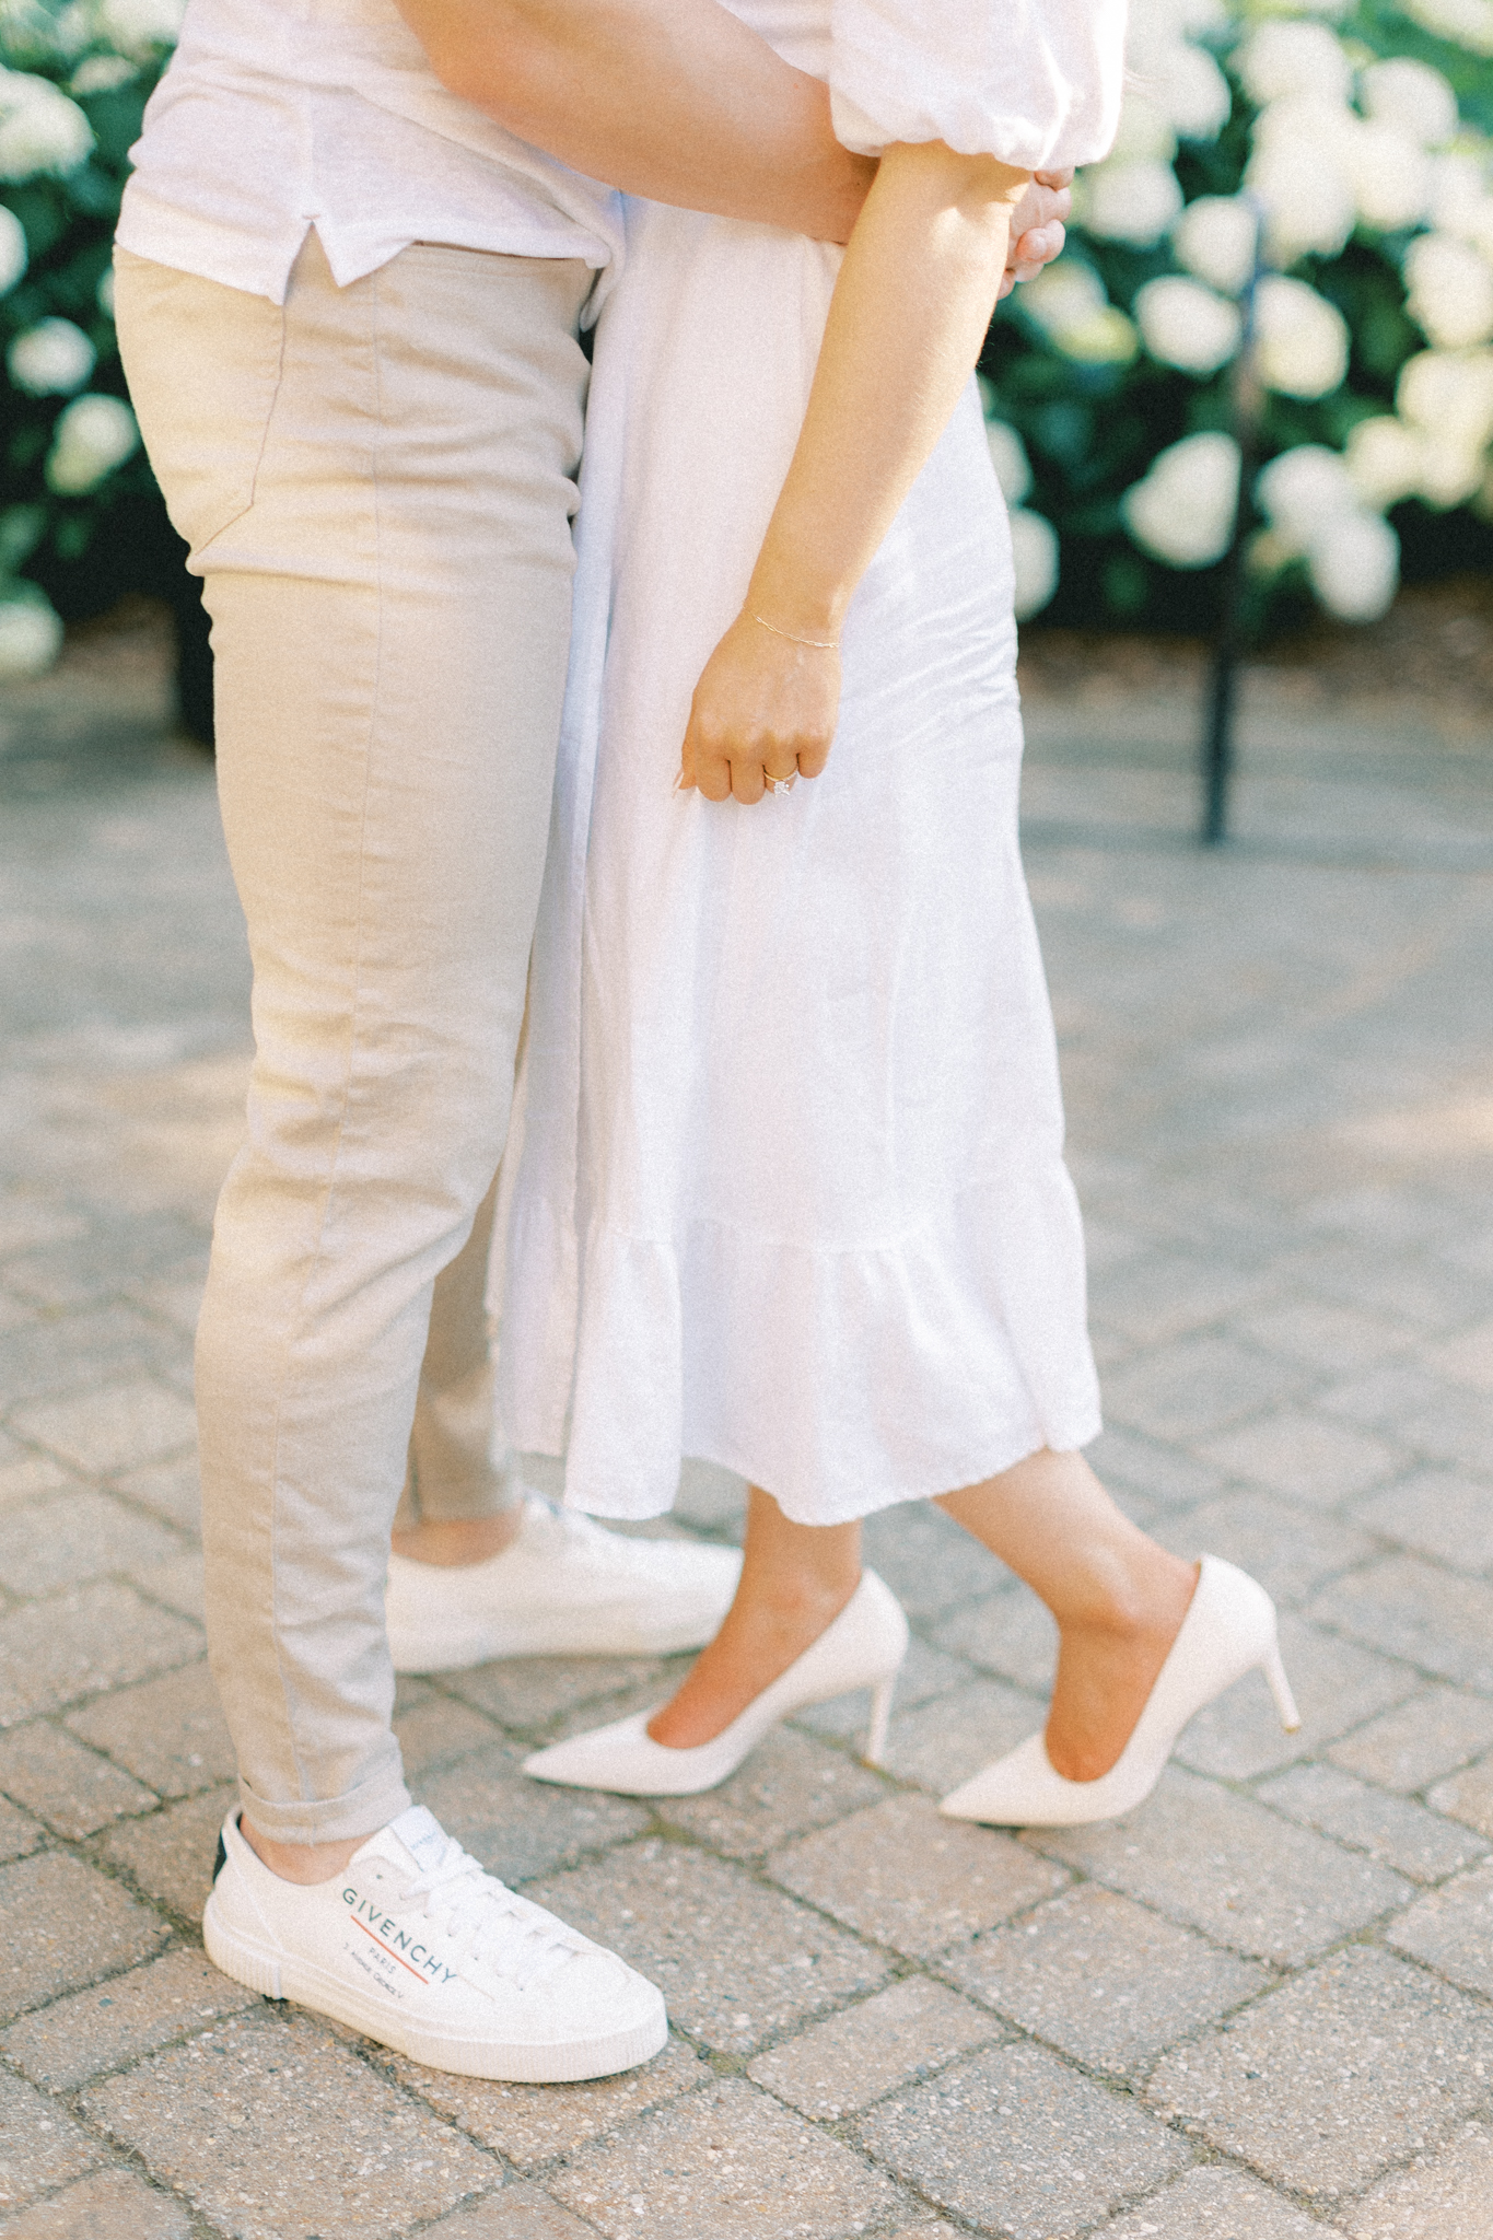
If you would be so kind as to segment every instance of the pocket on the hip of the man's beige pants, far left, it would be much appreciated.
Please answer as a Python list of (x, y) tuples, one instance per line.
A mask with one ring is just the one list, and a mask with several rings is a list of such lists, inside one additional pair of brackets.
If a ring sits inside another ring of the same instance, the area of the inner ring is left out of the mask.
[(150, 466), (201, 573), (206, 547), (253, 506), (284, 309), (116, 249), (114, 323)]

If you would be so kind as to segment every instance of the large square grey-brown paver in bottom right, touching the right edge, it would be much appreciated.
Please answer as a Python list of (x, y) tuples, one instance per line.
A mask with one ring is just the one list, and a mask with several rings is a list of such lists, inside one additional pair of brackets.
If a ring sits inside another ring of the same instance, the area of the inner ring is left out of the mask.
[(1491, 2070), (1486, 2009), (1356, 1944), (1166, 2054), (1148, 2099), (1262, 2177), (1332, 2200), (1439, 2146), (1489, 2099)]

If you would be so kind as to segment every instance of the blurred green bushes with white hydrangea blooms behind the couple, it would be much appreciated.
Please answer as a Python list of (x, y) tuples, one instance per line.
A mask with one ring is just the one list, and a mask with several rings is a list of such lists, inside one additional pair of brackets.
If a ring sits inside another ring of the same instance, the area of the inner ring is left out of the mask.
[[(208, 737), (197, 582), (110, 293), (179, 18), (0, 0), (0, 674), (47, 668), (63, 620), (157, 596)], [(1065, 255), (983, 358), (1018, 609), (1213, 629), (1240, 432), (1253, 636), (1493, 562), (1493, 0), (1133, 0), (1128, 83)]]

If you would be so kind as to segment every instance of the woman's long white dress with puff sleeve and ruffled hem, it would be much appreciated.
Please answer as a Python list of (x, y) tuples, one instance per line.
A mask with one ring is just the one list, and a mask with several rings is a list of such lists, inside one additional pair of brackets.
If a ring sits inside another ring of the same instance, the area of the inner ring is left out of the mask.
[[(1115, 0), (734, 4), (853, 146), (1108, 143)], [(499, 1380), (600, 1516), (667, 1510), (692, 1454), (839, 1523), (1099, 1429), (974, 383), (851, 605), (826, 773), (752, 809), (674, 791), (837, 267), (629, 204), (598, 329)]]

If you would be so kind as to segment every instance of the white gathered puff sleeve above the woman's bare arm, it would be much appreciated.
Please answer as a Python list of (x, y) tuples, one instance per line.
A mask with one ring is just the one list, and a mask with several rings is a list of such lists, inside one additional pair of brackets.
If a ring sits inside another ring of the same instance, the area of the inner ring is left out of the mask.
[(1018, 170), (1108, 152), (1126, 0), (830, 0), (835, 134), (864, 155), (947, 141)]

